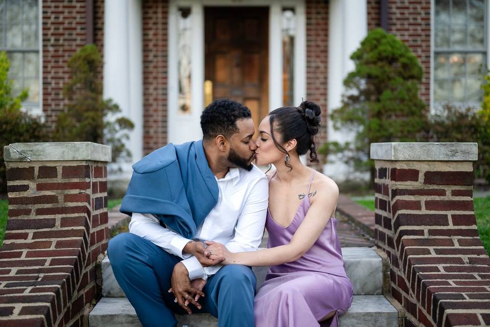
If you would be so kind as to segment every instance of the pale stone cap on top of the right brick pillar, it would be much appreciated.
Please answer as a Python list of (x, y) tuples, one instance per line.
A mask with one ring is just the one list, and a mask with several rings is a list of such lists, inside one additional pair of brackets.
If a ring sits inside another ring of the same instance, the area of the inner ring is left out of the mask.
[(372, 143), (371, 159), (406, 161), (475, 161), (477, 143)]

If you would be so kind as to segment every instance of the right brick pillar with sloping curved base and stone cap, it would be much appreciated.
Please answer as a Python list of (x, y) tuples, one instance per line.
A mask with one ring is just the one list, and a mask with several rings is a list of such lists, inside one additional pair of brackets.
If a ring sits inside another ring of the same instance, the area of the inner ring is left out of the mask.
[(473, 212), (476, 143), (378, 143), (376, 245), (408, 326), (490, 324), (490, 259)]

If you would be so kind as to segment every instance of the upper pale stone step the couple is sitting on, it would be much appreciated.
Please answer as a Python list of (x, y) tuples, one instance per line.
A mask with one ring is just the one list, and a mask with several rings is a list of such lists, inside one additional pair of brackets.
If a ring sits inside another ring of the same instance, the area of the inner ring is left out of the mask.
[[(342, 249), (347, 275), (354, 286), (354, 295), (376, 295), (382, 293), (383, 264), (381, 257), (372, 248), (346, 247)], [(257, 276), (257, 288), (262, 285), (267, 267), (254, 267)], [(124, 297), (112, 272), (109, 258), (102, 261), (102, 295), (106, 297)]]

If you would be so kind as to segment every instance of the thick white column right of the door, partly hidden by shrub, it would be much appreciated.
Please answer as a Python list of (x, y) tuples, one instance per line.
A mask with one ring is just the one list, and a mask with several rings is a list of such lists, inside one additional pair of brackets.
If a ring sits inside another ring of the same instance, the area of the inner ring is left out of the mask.
[[(344, 92), (344, 79), (355, 68), (350, 59), (367, 35), (367, 7), (365, 1), (331, 0), (329, 8), (328, 39), (328, 108), (329, 111), (341, 106)], [(329, 112), (329, 113), (330, 113)], [(345, 130), (334, 130), (328, 120), (328, 141), (345, 143), (352, 141), (355, 134)], [(342, 155), (330, 155), (324, 172), (337, 181), (365, 178), (365, 175), (352, 174), (342, 162)]]

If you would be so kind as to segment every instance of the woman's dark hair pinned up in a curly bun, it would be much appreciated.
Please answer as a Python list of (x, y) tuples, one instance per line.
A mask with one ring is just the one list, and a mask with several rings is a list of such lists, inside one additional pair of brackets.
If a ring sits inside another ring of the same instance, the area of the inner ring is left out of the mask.
[[(310, 162), (318, 162), (314, 136), (320, 130), (320, 114), (320, 106), (313, 101), (303, 101), (298, 107), (281, 107), (269, 112), (271, 136), (276, 147), (287, 154), (274, 136), (274, 131), (281, 134), (280, 143), (296, 138), (296, 152), (303, 155), (310, 150)], [(287, 162), (286, 167), (292, 169)]]

